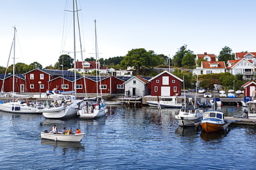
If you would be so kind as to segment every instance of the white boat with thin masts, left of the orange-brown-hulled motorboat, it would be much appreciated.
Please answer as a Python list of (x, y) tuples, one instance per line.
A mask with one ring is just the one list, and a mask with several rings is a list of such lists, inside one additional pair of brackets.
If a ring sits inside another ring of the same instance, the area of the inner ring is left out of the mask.
[[(197, 84), (198, 83), (196, 83), (196, 89)], [(194, 101), (196, 101), (196, 95)], [(194, 126), (196, 123), (199, 123), (202, 118), (203, 110), (198, 108), (196, 109), (196, 105), (192, 102), (192, 98), (188, 98), (188, 103), (185, 103), (184, 107), (179, 109), (179, 114), (175, 115), (175, 119), (178, 121), (181, 127)]]

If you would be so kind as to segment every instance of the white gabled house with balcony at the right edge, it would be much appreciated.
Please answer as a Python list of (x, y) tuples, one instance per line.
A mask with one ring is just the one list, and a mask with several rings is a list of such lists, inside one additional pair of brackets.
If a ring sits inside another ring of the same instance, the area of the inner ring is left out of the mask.
[(241, 58), (239, 60), (229, 60), (227, 72), (233, 75), (242, 74), (245, 81), (255, 80), (255, 65), (253, 61), (247, 60), (246, 58)]

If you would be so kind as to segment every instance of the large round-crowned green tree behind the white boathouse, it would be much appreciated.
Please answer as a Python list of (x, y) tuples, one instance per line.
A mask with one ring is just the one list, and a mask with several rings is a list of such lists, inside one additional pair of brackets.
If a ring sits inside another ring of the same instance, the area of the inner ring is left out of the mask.
[(120, 62), (123, 67), (135, 67), (136, 74), (141, 67), (152, 68), (159, 64), (159, 58), (154, 51), (150, 50), (147, 52), (144, 48), (133, 49), (128, 52), (126, 56)]

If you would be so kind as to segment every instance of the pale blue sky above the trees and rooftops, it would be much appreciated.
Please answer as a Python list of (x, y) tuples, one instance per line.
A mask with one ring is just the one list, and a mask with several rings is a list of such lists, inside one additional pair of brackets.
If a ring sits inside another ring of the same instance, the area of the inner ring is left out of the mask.
[[(182, 45), (188, 45), (194, 54), (219, 55), (224, 46), (234, 53), (256, 52), (254, 0), (77, 2), (82, 20), (83, 59), (95, 58), (94, 20), (99, 58), (103, 59), (125, 56), (136, 48), (172, 57)], [(69, 3), (71, 0), (0, 0), (0, 66), (8, 65), (13, 26), (17, 28), (16, 63), (37, 62), (46, 67), (55, 65), (63, 51), (71, 52), (73, 57), (73, 40), (69, 38), (71, 22), (68, 21), (72, 13), (64, 11), (72, 10), (66, 8)], [(63, 36), (63, 32), (68, 33)], [(66, 41), (62, 37), (67, 37)], [(82, 61), (80, 54), (76, 60)]]

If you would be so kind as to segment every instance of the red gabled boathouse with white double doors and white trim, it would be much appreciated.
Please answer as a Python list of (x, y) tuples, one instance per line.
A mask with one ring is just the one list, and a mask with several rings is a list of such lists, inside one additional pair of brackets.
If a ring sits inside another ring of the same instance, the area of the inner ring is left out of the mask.
[(152, 96), (181, 96), (183, 80), (174, 74), (164, 71), (149, 80)]

